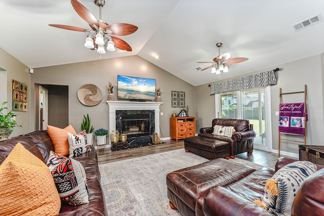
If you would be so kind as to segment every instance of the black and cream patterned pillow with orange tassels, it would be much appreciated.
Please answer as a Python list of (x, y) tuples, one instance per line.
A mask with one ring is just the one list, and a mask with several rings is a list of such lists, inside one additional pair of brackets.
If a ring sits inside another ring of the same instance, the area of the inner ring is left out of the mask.
[(316, 170), (316, 165), (309, 161), (295, 161), (280, 168), (266, 182), (261, 200), (254, 203), (275, 215), (290, 215), (299, 187)]

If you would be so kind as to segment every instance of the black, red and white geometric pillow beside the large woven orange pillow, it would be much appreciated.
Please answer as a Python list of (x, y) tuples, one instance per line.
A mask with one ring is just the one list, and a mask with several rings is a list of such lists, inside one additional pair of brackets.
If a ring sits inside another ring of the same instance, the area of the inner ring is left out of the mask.
[(89, 203), (86, 172), (79, 161), (51, 151), (47, 165), (63, 202), (70, 205)]

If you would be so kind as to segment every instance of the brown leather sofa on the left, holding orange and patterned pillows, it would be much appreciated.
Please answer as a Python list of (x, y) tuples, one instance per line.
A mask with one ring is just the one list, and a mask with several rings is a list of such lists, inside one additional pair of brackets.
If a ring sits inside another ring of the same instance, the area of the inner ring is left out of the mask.
[[(26, 135), (0, 141), (0, 164), (6, 159), (17, 143), (21, 143), (36, 157), (46, 162), (54, 145), (47, 131), (35, 131)], [(62, 204), (58, 215), (107, 215), (106, 202), (100, 185), (100, 171), (97, 163), (97, 153), (93, 146), (91, 151), (75, 157), (86, 170), (89, 203), (77, 206)]]

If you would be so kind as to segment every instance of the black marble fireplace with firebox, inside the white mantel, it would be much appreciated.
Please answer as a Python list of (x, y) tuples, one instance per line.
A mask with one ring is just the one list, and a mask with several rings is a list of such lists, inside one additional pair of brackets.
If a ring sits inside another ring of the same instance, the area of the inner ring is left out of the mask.
[(154, 133), (154, 110), (116, 110), (116, 130), (128, 138)]

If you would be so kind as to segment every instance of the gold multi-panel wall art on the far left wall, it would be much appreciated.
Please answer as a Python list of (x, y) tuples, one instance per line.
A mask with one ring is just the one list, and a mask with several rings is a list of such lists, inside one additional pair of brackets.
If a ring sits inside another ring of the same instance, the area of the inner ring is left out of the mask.
[(12, 80), (12, 110), (13, 111), (27, 111), (28, 102), (28, 86), (15, 79)]

